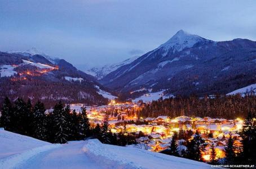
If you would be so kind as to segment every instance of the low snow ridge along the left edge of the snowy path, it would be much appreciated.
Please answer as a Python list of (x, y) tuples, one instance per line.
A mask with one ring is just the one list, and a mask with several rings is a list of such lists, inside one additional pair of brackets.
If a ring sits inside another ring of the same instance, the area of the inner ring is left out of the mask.
[(33, 156), (36, 156), (39, 153), (59, 147), (61, 147), (61, 144), (44, 145), (42, 147), (33, 148), (26, 152), (16, 154), (14, 156), (0, 159), (0, 168), (15, 168), (21, 165), (23, 162), (27, 161), (29, 158), (32, 158)]

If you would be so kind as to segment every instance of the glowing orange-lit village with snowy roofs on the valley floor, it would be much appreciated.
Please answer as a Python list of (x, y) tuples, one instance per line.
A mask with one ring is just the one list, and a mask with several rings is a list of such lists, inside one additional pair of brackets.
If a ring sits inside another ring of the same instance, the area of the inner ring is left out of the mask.
[[(82, 104), (70, 104), (71, 109), (80, 111)], [(211, 146), (214, 145), (216, 159), (225, 157), (225, 146), (227, 139), (234, 139), (235, 152), (241, 151), (241, 137), (239, 131), (242, 128), (243, 120), (235, 118), (226, 120), (223, 118), (210, 117), (187, 117), (169, 116), (138, 117), (134, 112), (141, 108), (139, 103), (116, 103), (111, 101), (107, 106), (86, 107), (92, 127), (101, 124), (108, 118), (109, 128), (112, 133), (123, 132), (134, 134), (138, 141), (136, 148), (150, 150), (153, 152), (164, 152), (169, 149), (174, 133), (183, 132), (192, 140), (196, 133), (201, 135), (204, 143), (201, 147), (201, 158), (203, 161), (210, 161)], [(179, 138), (176, 141), (177, 150), (180, 156), (186, 151), (186, 140)]]

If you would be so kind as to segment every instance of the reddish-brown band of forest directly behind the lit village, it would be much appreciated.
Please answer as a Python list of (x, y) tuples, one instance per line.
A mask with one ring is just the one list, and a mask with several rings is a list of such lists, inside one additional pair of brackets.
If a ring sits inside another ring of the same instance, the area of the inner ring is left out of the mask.
[(216, 95), (214, 98), (176, 97), (158, 99), (145, 106), (138, 112), (138, 117), (157, 117), (166, 115), (199, 116), (233, 119), (245, 118), (249, 111), (256, 111), (256, 95)]

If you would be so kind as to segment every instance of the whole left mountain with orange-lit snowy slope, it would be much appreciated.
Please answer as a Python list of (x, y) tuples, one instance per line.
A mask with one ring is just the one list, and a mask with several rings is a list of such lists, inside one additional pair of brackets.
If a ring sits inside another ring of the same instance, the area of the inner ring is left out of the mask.
[[(30, 53), (28, 53), (30, 52)], [(95, 77), (59, 59), (51, 62), (42, 52), (0, 52), (0, 103), (8, 96), (30, 98), (52, 107), (64, 103), (107, 104), (115, 98)]]

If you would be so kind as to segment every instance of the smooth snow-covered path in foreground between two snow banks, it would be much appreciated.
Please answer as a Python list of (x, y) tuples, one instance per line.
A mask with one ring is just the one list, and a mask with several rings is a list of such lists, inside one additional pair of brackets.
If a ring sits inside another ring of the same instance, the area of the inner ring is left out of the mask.
[(71, 141), (62, 147), (37, 154), (15, 168), (106, 168), (82, 151), (85, 141)]

